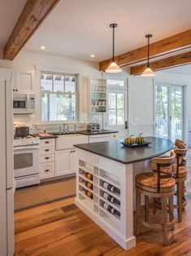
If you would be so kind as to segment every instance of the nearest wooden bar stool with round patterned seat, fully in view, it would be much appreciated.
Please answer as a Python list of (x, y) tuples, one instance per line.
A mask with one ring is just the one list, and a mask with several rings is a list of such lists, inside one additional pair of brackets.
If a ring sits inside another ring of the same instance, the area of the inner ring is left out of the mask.
[[(157, 166), (157, 173), (144, 172), (136, 176), (136, 217), (137, 235), (140, 232), (140, 224), (152, 229), (163, 230), (163, 244), (167, 245), (167, 230), (174, 229), (173, 195), (175, 193), (176, 181), (172, 176), (173, 164), (176, 155), (171, 152), (170, 157), (154, 158)], [(169, 170), (163, 174), (161, 170)], [(145, 196), (145, 220), (141, 219), (141, 195)], [(149, 201), (150, 197), (160, 199), (162, 204), (163, 223), (149, 223)], [(169, 214), (169, 221), (167, 215)]]

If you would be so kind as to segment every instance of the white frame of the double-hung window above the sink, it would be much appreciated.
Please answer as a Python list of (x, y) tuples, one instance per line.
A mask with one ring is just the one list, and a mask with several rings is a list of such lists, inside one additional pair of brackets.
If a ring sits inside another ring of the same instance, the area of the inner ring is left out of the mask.
[[(58, 76), (70, 76), (70, 77), (76, 77), (76, 84), (75, 84), (75, 92), (65, 92), (65, 85), (64, 85), (64, 91), (54, 91), (54, 79), (52, 79), (52, 90), (41, 90), (41, 74), (50, 74), (52, 75), (54, 78), (55, 75)], [(38, 121), (39, 124), (60, 124), (60, 123), (76, 123), (79, 121), (79, 81), (80, 81), (80, 74), (79, 73), (66, 73), (66, 72), (57, 72), (57, 71), (50, 71), (50, 70), (39, 70), (39, 86), (38, 86), (38, 91), (39, 91), (39, 95), (40, 95), (40, 99), (39, 99), (39, 115), (38, 115)], [(76, 119), (75, 120), (54, 120), (54, 121), (43, 121), (41, 119), (41, 95), (43, 93), (46, 93), (48, 95), (75, 95), (76, 96)]]

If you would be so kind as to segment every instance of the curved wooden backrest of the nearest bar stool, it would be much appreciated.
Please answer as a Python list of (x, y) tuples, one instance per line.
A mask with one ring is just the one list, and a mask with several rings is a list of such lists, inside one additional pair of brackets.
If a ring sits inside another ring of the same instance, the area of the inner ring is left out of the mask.
[[(157, 178), (158, 178), (158, 185), (157, 191), (160, 192), (160, 179), (168, 179), (172, 177), (173, 174), (173, 164), (176, 159), (175, 152), (171, 151), (169, 157), (155, 157), (154, 163), (157, 165)], [(166, 169), (167, 173), (164, 174), (163, 170)]]

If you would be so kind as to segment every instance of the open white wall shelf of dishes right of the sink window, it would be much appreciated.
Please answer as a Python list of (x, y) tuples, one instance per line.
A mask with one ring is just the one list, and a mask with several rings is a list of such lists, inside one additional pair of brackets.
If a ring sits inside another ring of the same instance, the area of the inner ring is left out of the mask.
[(106, 79), (90, 78), (89, 85), (89, 112), (106, 112)]

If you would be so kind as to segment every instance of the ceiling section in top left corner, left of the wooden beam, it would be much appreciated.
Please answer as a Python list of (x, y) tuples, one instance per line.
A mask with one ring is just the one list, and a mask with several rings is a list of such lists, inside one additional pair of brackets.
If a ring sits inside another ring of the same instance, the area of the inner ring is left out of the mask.
[(0, 46), (5, 46), (27, 0), (0, 0)]

